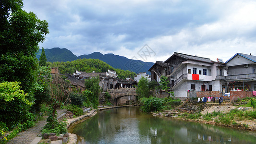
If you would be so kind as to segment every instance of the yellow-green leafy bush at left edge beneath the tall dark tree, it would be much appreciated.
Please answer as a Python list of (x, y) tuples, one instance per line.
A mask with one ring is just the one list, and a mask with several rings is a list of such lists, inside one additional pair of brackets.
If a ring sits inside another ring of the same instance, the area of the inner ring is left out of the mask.
[(27, 100), (27, 93), (24, 93), (19, 86), (20, 82), (0, 83), (0, 121), (11, 127), (19, 122), (25, 122), (29, 118), (29, 110), (32, 102)]

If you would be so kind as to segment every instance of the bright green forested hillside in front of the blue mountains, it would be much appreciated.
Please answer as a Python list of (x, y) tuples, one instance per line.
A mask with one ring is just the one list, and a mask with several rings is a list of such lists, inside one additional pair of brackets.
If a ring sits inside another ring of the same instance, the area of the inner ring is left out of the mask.
[(106, 62), (98, 59), (78, 59), (67, 62), (47, 62), (49, 67), (59, 68), (60, 73), (73, 74), (73, 72), (82, 71), (82, 72), (108, 72), (108, 70), (116, 71), (119, 78), (125, 79), (132, 77), (134, 78), (134, 72), (124, 71), (121, 69), (115, 69)]

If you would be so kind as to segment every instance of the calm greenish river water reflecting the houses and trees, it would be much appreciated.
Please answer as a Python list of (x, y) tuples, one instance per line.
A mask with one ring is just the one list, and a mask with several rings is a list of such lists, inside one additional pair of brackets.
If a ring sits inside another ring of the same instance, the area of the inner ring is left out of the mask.
[(139, 107), (98, 111), (77, 124), (78, 144), (256, 144), (255, 132), (244, 132), (142, 113)]

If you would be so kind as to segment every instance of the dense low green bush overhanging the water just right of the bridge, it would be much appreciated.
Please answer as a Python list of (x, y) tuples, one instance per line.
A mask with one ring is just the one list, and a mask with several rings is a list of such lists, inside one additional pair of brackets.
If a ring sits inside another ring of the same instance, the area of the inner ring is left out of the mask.
[(153, 110), (160, 111), (164, 106), (164, 99), (157, 97), (143, 97), (140, 98), (140, 101), (143, 103), (141, 110), (144, 112), (152, 112)]

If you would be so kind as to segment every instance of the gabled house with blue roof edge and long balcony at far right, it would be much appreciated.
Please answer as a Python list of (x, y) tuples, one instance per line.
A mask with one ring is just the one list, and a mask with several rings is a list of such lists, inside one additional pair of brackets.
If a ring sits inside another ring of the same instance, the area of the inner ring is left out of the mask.
[(256, 56), (236, 53), (226, 62), (226, 67), (227, 74), (219, 69), (216, 77), (223, 85), (223, 91), (256, 91)]

